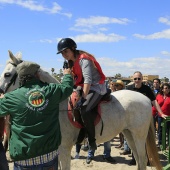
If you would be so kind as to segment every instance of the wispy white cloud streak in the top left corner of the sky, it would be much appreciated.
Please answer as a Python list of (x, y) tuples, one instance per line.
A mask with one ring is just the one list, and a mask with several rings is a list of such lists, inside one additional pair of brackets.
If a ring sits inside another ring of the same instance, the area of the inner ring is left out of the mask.
[(51, 8), (45, 7), (43, 4), (39, 4), (38, 1), (33, 0), (0, 0), (0, 4), (15, 4), (27, 8), (32, 11), (39, 11), (39, 12), (48, 12), (52, 14), (61, 14), (67, 17), (72, 17), (71, 13), (63, 13), (62, 7), (58, 5), (56, 2), (53, 2), (53, 6)]

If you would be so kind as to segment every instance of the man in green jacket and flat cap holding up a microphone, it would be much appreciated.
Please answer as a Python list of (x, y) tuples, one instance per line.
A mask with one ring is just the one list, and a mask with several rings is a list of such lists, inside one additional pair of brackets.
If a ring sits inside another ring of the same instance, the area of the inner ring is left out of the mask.
[(20, 87), (0, 96), (0, 116), (10, 114), (10, 156), (14, 170), (57, 170), (61, 144), (59, 103), (71, 95), (73, 79), (64, 69), (61, 84), (39, 80), (40, 66), (22, 62), (17, 67)]

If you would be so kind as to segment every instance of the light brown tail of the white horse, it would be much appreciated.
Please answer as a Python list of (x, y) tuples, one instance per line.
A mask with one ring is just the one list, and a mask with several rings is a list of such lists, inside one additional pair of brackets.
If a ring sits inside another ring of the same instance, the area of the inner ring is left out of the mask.
[(156, 167), (157, 170), (162, 170), (162, 165), (159, 159), (158, 149), (155, 142), (155, 129), (153, 125), (153, 118), (151, 119), (149, 132), (146, 139), (146, 150), (150, 164)]

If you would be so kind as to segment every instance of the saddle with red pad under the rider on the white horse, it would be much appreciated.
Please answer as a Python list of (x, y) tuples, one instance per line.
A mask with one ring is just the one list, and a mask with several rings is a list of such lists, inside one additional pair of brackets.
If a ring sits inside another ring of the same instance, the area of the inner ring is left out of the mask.
[[(102, 97), (99, 104), (93, 109), (93, 112), (95, 113), (95, 121), (94, 121), (95, 126), (101, 120), (100, 104), (109, 102), (111, 100), (110, 93), (111, 93), (111, 90), (107, 89), (107, 93)], [(69, 103), (68, 103), (68, 118), (70, 122), (73, 124), (73, 126), (80, 129), (79, 136), (78, 136), (76, 143), (81, 143), (87, 136), (86, 130), (84, 128), (83, 120), (81, 118), (80, 109), (76, 108), (77, 102), (81, 98), (81, 95), (82, 95), (82, 88), (79, 87), (75, 89), (73, 93), (71, 94)], [(102, 131), (103, 131), (103, 122), (102, 122), (101, 134), (102, 134)]]

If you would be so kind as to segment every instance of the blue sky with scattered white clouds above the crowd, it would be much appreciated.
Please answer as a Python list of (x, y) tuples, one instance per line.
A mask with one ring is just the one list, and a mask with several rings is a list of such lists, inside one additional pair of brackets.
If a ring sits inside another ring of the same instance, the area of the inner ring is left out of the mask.
[(92, 53), (106, 76), (170, 78), (169, 0), (0, 0), (0, 73), (8, 50), (58, 73), (63, 37)]

